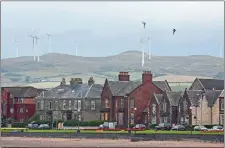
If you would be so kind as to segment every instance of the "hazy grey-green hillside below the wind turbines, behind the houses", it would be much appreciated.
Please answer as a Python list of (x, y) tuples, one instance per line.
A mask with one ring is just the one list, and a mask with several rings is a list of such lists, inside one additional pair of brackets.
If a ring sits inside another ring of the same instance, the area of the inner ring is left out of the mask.
[(224, 71), (223, 58), (204, 55), (153, 56), (148, 60), (148, 55), (145, 54), (145, 66), (142, 68), (139, 51), (127, 51), (108, 57), (51, 53), (40, 56), (40, 60), (38, 63), (32, 56), (2, 59), (2, 80), (7, 81), (5, 83), (10, 83), (10, 80), (24, 82), (26, 76), (31, 79), (61, 79), (62, 76), (71, 77), (84, 73), (104, 79), (116, 79), (119, 71), (129, 71), (132, 79), (140, 79), (143, 70), (151, 70), (154, 76), (214, 77), (218, 72)]

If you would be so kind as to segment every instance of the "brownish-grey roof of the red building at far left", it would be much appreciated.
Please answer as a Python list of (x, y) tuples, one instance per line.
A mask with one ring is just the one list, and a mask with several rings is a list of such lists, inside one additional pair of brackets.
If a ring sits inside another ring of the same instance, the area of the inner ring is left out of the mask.
[(36, 97), (40, 94), (43, 89), (37, 89), (31, 86), (27, 87), (3, 87), (6, 91), (10, 92), (13, 97), (18, 98), (27, 98), (27, 97)]

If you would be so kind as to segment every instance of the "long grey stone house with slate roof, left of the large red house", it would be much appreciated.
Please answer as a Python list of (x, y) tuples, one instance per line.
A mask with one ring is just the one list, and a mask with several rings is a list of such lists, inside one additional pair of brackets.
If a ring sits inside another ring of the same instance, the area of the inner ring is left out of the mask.
[(43, 92), (36, 98), (40, 120), (100, 120), (100, 84), (74, 84), (59, 86)]

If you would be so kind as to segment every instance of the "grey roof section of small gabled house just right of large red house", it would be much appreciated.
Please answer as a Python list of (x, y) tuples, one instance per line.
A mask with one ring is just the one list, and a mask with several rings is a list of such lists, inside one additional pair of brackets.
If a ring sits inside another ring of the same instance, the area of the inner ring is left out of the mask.
[(178, 106), (178, 102), (180, 100), (181, 95), (182, 95), (181, 92), (175, 92), (175, 91), (166, 92), (166, 96), (168, 97), (171, 106)]

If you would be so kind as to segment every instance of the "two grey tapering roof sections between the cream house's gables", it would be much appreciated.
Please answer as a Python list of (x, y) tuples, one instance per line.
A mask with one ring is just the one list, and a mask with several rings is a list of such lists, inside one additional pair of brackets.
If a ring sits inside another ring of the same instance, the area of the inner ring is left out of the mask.
[[(188, 90), (188, 98), (190, 99), (192, 105), (199, 105), (199, 100), (201, 99), (201, 90)], [(220, 96), (222, 90), (205, 90), (205, 97), (208, 102), (208, 106), (212, 106), (217, 98)]]

